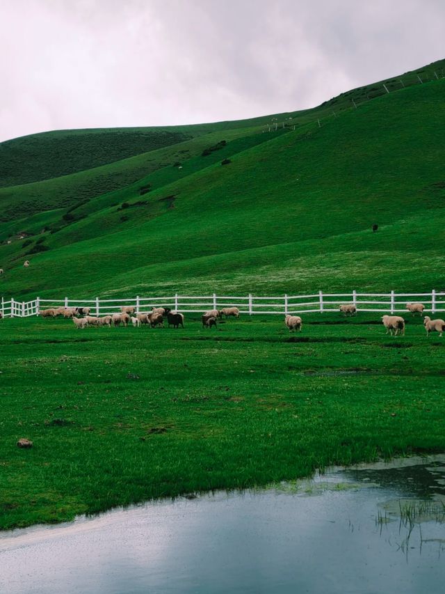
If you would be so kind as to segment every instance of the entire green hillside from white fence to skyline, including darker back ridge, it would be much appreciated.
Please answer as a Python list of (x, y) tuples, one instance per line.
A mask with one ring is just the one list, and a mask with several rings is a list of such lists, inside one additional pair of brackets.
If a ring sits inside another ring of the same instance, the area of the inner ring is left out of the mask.
[(2, 294), (445, 288), (443, 68), (291, 114), (2, 143)]

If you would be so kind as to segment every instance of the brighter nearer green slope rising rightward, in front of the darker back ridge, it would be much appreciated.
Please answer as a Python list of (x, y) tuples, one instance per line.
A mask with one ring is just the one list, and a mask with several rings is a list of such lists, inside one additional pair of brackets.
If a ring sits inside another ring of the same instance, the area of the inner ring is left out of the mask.
[[(2, 246), (3, 289), (17, 297), (70, 288), (82, 297), (442, 288), (444, 90), (444, 80), (419, 84), (321, 128), (259, 134), (264, 141), (250, 148), (241, 136), (210, 166), (193, 157), (180, 171), (159, 169), (88, 203), (91, 214), (49, 235), (50, 251), (26, 271), (17, 242)], [(232, 164), (220, 166), (228, 155)], [(139, 201), (147, 182), (146, 205), (106, 207)], [(174, 208), (162, 200), (170, 195)]]

